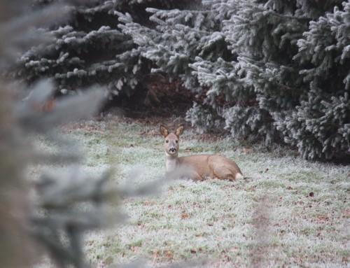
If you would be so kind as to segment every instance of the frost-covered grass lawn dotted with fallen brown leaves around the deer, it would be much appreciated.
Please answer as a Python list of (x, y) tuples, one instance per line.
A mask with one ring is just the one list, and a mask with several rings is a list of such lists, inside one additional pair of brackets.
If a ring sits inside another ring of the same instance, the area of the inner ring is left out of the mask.
[[(83, 145), (87, 172), (116, 165), (114, 185), (164, 174), (158, 125), (98, 124), (102, 130), (68, 133)], [(180, 154), (193, 153), (225, 155), (246, 178), (176, 181), (160, 196), (125, 199), (128, 223), (87, 234), (92, 266), (139, 258), (148, 267), (204, 258), (205, 267), (349, 266), (349, 166), (307, 162), (283, 148), (244, 148), (232, 139), (198, 141), (187, 131)], [(140, 176), (130, 180), (137, 167)]]

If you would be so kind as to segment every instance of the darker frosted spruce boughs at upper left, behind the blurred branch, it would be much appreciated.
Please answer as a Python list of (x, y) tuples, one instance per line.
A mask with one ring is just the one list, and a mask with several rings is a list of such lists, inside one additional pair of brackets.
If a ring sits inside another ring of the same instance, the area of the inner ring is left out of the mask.
[[(59, 0), (34, 0), (41, 9)], [(182, 1), (174, 1), (181, 5)], [(9, 76), (21, 78), (29, 85), (43, 77), (53, 78), (57, 94), (74, 94), (98, 84), (110, 98), (120, 93), (132, 95), (151, 69), (151, 62), (141, 57), (130, 36), (118, 29), (120, 12), (133, 20), (148, 24), (145, 6), (169, 7), (172, 1), (70, 1), (68, 21), (38, 29), (55, 39), (51, 45), (41, 43), (27, 50)], [(40, 56), (38, 56), (40, 55)]]

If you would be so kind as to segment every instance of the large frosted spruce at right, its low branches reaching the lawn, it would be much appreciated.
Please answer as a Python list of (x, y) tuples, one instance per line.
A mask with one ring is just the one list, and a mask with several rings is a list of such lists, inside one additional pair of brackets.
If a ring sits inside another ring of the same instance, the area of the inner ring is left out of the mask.
[(330, 159), (349, 153), (348, 6), (202, 1), (196, 10), (148, 9), (155, 29), (131, 20), (121, 28), (153, 71), (181, 76), (204, 98), (187, 113), (198, 129), (225, 127)]

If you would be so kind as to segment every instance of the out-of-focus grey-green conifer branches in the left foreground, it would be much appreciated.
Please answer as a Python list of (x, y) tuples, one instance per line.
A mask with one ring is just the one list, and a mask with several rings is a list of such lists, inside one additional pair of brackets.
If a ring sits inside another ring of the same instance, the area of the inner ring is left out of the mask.
[[(15, 0), (15, 3), (27, 2)], [(22, 17), (12, 12), (15, 8), (10, 1), (1, 1), (0, 10), (1, 73), (15, 61), (18, 52), (33, 42), (50, 44), (50, 38), (33, 27), (47, 27), (66, 18), (64, 2), (48, 5), (40, 12), (26, 10)], [(5, 12), (8, 13), (5, 15)], [(36, 83), (30, 93), (25, 88), (25, 99), (20, 97), (18, 87), (19, 84), (0, 78), (0, 267), (31, 265), (39, 258), (38, 248), (49, 253), (59, 267), (89, 267), (83, 253), (83, 234), (106, 226), (111, 218), (113, 223), (125, 218), (120, 210), (113, 211), (113, 217), (109, 217), (104, 204), (112, 201), (118, 208), (119, 199), (154, 194), (162, 185), (186, 174), (186, 170), (139, 188), (130, 188), (130, 183), (111, 188), (112, 170), (99, 176), (86, 176), (76, 167), (71, 167), (66, 174), (54, 169), (52, 174), (42, 174), (36, 183), (30, 184), (26, 173), (33, 164), (59, 163), (67, 167), (83, 159), (79, 150), (72, 153), (72, 142), (53, 134), (52, 129), (90, 118), (104, 101), (104, 91), (95, 86), (83, 95), (52, 101), (55, 85), (50, 80)], [(58, 153), (37, 153), (31, 140), (33, 136), (55, 143)], [(132, 174), (130, 179), (138, 175)], [(36, 191), (31, 195), (33, 185)], [(140, 262), (129, 267), (142, 265)]]

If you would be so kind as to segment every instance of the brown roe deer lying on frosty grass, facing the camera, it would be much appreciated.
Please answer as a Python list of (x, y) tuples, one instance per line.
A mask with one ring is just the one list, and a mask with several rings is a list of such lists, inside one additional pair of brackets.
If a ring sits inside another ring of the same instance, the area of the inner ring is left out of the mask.
[(174, 133), (167, 127), (160, 125), (160, 134), (164, 137), (165, 155), (167, 157), (165, 171), (168, 173), (178, 167), (189, 167), (189, 177), (195, 181), (204, 178), (220, 178), (235, 181), (243, 178), (237, 164), (220, 155), (190, 155), (179, 157), (179, 137), (183, 134), (183, 125), (180, 125)]

